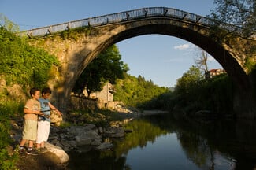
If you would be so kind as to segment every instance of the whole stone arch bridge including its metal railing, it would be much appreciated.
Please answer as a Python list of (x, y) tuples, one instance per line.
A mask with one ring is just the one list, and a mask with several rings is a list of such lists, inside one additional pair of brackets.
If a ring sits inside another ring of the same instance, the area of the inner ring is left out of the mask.
[[(102, 51), (124, 39), (139, 35), (160, 34), (187, 40), (211, 54), (236, 84), (236, 116), (255, 118), (254, 81), (247, 63), (255, 63), (255, 37), (243, 39), (228, 24), (178, 9), (152, 7), (91, 17), (63, 24), (20, 32), (61, 61), (54, 79), (48, 82), (54, 90), (55, 105), (65, 108), (72, 87), (83, 69)], [(147, 63), (147, 61), (145, 61)], [(63, 110), (65, 112), (65, 110)]]

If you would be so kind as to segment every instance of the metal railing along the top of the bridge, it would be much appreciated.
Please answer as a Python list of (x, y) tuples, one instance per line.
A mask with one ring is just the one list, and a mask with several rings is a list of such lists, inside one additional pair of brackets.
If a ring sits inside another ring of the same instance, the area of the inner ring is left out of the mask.
[[(213, 26), (215, 22), (207, 17), (202, 17), (194, 13), (187, 13), (179, 9), (166, 7), (150, 7), (143, 9), (129, 10), (121, 13), (113, 13), (100, 17), (91, 17), (83, 20), (73, 20), (70, 22), (46, 26), (43, 28), (35, 28), (28, 31), (21, 31), (18, 35), (28, 35), (29, 37), (43, 36), (54, 34), (60, 31), (81, 27), (96, 27), (105, 24), (114, 24), (127, 20), (136, 20), (147, 17), (171, 17), (178, 20), (187, 20), (196, 24)], [(226, 27), (225, 27), (226, 28)]]

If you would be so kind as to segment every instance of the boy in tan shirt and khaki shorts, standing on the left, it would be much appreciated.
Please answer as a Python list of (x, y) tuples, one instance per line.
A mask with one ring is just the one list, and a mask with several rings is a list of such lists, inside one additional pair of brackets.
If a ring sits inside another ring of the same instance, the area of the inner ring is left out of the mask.
[(40, 91), (37, 88), (30, 90), (31, 99), (28, 99), (24, 106), (24, 129), (22, 132), (22, 139), (20, 141), (19, 151), (24, 152), (24, 145), (28, 142), (28, 154), (36, 155), (37, 150), (33, 150), (33, 144), (37, 136), (37, 120), (40, 112)]

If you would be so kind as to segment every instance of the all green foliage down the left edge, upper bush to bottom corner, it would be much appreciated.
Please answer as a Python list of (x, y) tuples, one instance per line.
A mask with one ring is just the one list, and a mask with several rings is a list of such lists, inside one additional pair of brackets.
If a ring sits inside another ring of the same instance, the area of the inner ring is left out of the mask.
[(17, 37), (13, 33), (18, 30), (16, 25), (6, 17), (0, 16), (0, 22), (0, 77), (3, 83), (0, 93), (0, 169), (15, 169), (17, 154), (11, 155), (7, 151), (13, 142), (9, 136), (10, 120), (23, 113), (24, 104), (10, 98), (7, 87), (18, 84), (26, 94), (28, 88), (46, 86), (50, 69), (58, 65), (58, 60), (42, 49), (29, 46), (27, 39)]

